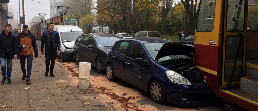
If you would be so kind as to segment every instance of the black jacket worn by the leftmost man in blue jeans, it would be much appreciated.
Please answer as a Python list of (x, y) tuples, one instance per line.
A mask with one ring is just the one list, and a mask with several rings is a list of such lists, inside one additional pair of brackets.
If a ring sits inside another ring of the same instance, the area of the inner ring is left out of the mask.
[(6, 35), (3, 30), (0, 34), (0, 58), (11, 59), (14, 54), (17, 54), (16, 38), (12, 32)]

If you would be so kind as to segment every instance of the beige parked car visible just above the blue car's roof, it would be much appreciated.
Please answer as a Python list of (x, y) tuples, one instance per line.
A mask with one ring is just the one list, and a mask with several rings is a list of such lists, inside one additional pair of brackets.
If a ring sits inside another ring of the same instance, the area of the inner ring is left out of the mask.
[(134, 37), (153, 37), (161, 38), (161, 35), (158, 31), (140, 31), (134, 34)]

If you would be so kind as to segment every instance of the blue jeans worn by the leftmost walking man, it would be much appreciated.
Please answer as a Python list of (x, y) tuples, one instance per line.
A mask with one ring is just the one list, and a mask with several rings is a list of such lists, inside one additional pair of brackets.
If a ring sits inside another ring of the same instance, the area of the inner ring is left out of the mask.
[[(6, 63), (7, 63), (7, 71), (6, 71)], [(11, 78), (12, 74), (12, 64), (13, 64), (13, 59), (5, 59), (5, 58), (0, 58), (0, 63), (1, 63), (1, 70), (2, 70), (2, 75), (3, 77), (6, 77), (8, 79)]]

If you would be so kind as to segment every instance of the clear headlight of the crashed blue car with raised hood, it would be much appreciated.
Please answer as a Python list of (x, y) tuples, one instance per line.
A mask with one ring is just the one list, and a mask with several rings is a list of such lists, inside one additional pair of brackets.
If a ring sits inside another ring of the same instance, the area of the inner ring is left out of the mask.
[(169, 71), (166, 71), (166, 74), (169, 80), (173, 83), (182, 84), (182, 85), (191, 85), (188, 79), (186, 79), (181, 74), (175, 71), (169, 70)]

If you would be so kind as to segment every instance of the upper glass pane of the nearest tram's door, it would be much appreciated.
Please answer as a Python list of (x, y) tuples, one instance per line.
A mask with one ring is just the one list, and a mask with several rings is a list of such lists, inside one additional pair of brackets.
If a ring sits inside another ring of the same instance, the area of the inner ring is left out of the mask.
[[(227, 31), (242, 32), (244, 29), (244, 0), (228, 0)], [(228, 25), (229, 24), (229, 25)]]

